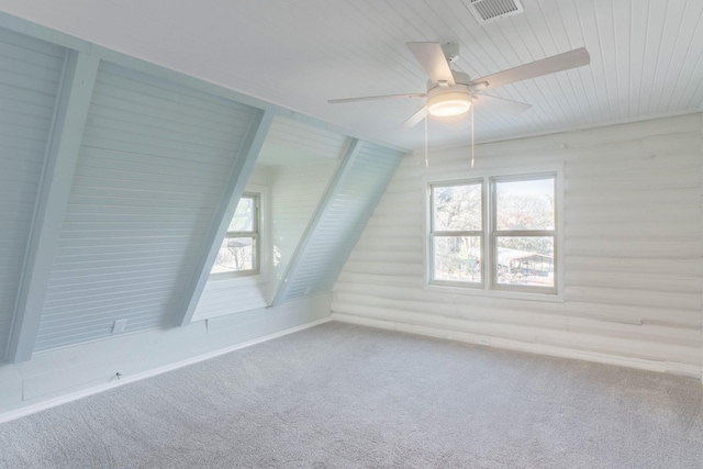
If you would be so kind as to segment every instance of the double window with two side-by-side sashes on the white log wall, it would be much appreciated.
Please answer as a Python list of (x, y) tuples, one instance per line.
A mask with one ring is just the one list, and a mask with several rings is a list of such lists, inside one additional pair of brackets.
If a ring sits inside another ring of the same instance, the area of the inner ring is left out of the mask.
[(429, 284), (557, 293), (557, 175), (429, 185)]

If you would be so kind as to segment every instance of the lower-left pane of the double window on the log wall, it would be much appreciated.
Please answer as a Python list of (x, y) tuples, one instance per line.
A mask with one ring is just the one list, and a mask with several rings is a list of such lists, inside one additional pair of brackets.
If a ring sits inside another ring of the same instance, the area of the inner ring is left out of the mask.
[(481, 237), (435, 236), (434, 280), (480, 282)]

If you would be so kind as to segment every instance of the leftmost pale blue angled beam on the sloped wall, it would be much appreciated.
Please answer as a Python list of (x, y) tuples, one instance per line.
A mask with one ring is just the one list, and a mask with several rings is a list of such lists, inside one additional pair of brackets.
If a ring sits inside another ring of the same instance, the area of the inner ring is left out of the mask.
[(7, 359), (32, 358), (100, 59), (68, 52), (14, 306)]

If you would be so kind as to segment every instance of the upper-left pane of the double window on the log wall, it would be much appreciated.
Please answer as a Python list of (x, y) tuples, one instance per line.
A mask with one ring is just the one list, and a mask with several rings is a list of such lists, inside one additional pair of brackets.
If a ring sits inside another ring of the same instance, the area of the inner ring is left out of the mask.
[(481, 185), (433, 186), (434, 231), (481, 231)]

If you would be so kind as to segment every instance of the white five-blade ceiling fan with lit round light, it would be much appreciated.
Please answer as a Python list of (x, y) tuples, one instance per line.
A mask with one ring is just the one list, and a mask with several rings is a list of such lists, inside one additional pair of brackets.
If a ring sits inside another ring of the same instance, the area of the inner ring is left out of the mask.
[(491, 105), (502, 112), (516, 114), (529, 109), (531, 104), (483, 94), (483, 91), (515, 81), (580, 67), (591, 62), (588, 51), (581, 47), (486, 77), (471, 79), (467, 74), (453, 70), (450, 67), (459, 57), (459, 46), (457, 44), (412, 42), (408, 43), (408, 47), (429, 77), (426, 92), (332, 99), (327, 102), (341, 104), (395, 98), (424, 98), (425, 105), (411, 115), (401, 127), (412, 127), (425, 119), (427, 114), (434, 116), (464, 114), (473, 104)]

